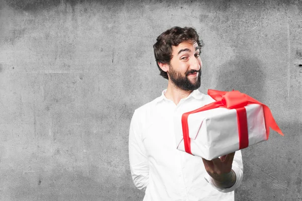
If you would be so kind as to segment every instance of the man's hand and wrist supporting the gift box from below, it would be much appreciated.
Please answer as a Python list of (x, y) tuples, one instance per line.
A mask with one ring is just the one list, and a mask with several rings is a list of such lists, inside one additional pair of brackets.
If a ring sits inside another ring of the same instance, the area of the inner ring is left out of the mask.
[(235, 152), (215, 158), (202, 159), (205, 170), (213, 178), (213, 183), (219, 188), (229, 188), (236, 182), (236, 174), (232, 170)]

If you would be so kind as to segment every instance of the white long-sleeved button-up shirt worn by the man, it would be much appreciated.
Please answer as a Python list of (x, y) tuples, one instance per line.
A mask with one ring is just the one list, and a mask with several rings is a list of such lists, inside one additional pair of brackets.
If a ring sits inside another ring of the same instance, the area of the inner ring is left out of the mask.
[(194, 90), (176, 106), (162, 95), (135, 110), (129, 132), (129, 161), (133, 182), (145, 190), (143, 201), (234, 200), (234, 190), (243, 177), (241, 151), (232, 169), (236, 183), (231, 188), (212, 184), (202, 159), (176, 149), (174, 116), (214, 102)]

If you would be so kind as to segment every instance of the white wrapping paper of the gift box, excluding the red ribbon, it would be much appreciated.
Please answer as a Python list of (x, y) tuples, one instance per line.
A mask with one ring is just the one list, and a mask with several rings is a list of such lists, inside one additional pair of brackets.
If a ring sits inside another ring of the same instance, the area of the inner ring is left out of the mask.
[[(262, 105), (245, 106), (249, 146), (267, 140)], [(176, 146), (185, 151), (181, 123), (182, 114), (174, 118)], [(239, 150), (237, 111), (215, 108), (188, 117), (191, 153), (207, 160)]]

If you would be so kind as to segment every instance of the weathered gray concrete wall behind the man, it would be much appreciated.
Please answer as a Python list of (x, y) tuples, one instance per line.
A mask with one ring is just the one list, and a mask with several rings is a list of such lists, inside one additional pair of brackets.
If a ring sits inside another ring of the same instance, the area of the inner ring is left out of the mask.
[(250, 94), (285, 134), (243, 150), (236, 200), (302, 199), (301, 1), (7, 0), (0, 23), (0, 200), (142, 200), (128, 128), (172, 26), (205, 43), (201, 91)]

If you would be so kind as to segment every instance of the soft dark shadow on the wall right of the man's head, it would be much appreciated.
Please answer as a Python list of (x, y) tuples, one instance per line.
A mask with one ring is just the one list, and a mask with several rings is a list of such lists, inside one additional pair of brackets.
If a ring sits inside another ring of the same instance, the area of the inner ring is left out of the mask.
[(217, 67), (214, 77), (214, 89), (239, 90), (254, 98), (263, 97), (265, 74), (263, 65), (256, 58), (236, 56), (234, 59)]

